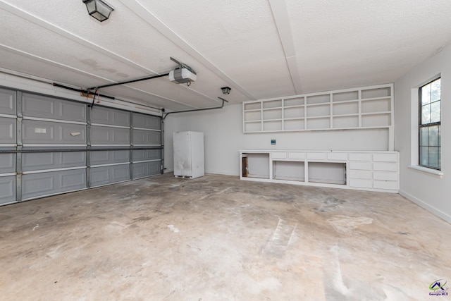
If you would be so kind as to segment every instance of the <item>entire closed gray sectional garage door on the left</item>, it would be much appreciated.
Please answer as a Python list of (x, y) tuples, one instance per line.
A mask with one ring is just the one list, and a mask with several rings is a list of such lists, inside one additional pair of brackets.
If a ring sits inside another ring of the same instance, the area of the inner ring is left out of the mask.
[(162, 173), (161, 117), (0, 88), (0, 204)]

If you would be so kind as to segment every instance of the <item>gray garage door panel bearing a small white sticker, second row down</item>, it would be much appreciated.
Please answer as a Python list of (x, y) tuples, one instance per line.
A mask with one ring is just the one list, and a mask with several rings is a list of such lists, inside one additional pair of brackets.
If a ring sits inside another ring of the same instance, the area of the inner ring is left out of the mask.
[(23, 121), (23, 144), (86, 145), (86, 126), (49, 121)]

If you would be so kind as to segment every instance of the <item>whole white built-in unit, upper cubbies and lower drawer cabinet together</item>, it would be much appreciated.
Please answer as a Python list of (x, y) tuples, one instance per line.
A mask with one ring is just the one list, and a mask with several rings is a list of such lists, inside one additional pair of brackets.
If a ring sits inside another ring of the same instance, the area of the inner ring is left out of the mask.
[(240, 151), (240, 178), (272, 183), (397, 192), (393, 84), (243, 102), (243, 133), (388, 131), (388, 151)]

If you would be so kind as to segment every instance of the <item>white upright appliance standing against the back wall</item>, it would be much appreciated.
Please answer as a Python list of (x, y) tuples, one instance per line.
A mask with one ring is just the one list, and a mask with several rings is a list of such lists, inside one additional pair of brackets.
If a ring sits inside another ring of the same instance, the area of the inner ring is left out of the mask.
[(204, 133), (175, 132), (175, 178), (199, 178), (204, 176)]

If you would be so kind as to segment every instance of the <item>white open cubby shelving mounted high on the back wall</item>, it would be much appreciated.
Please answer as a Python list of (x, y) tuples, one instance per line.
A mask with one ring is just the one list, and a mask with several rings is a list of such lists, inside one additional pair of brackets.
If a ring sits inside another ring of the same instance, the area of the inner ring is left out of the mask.
[(393, 84), (242, 104), (243, 133), (393, 127)]

